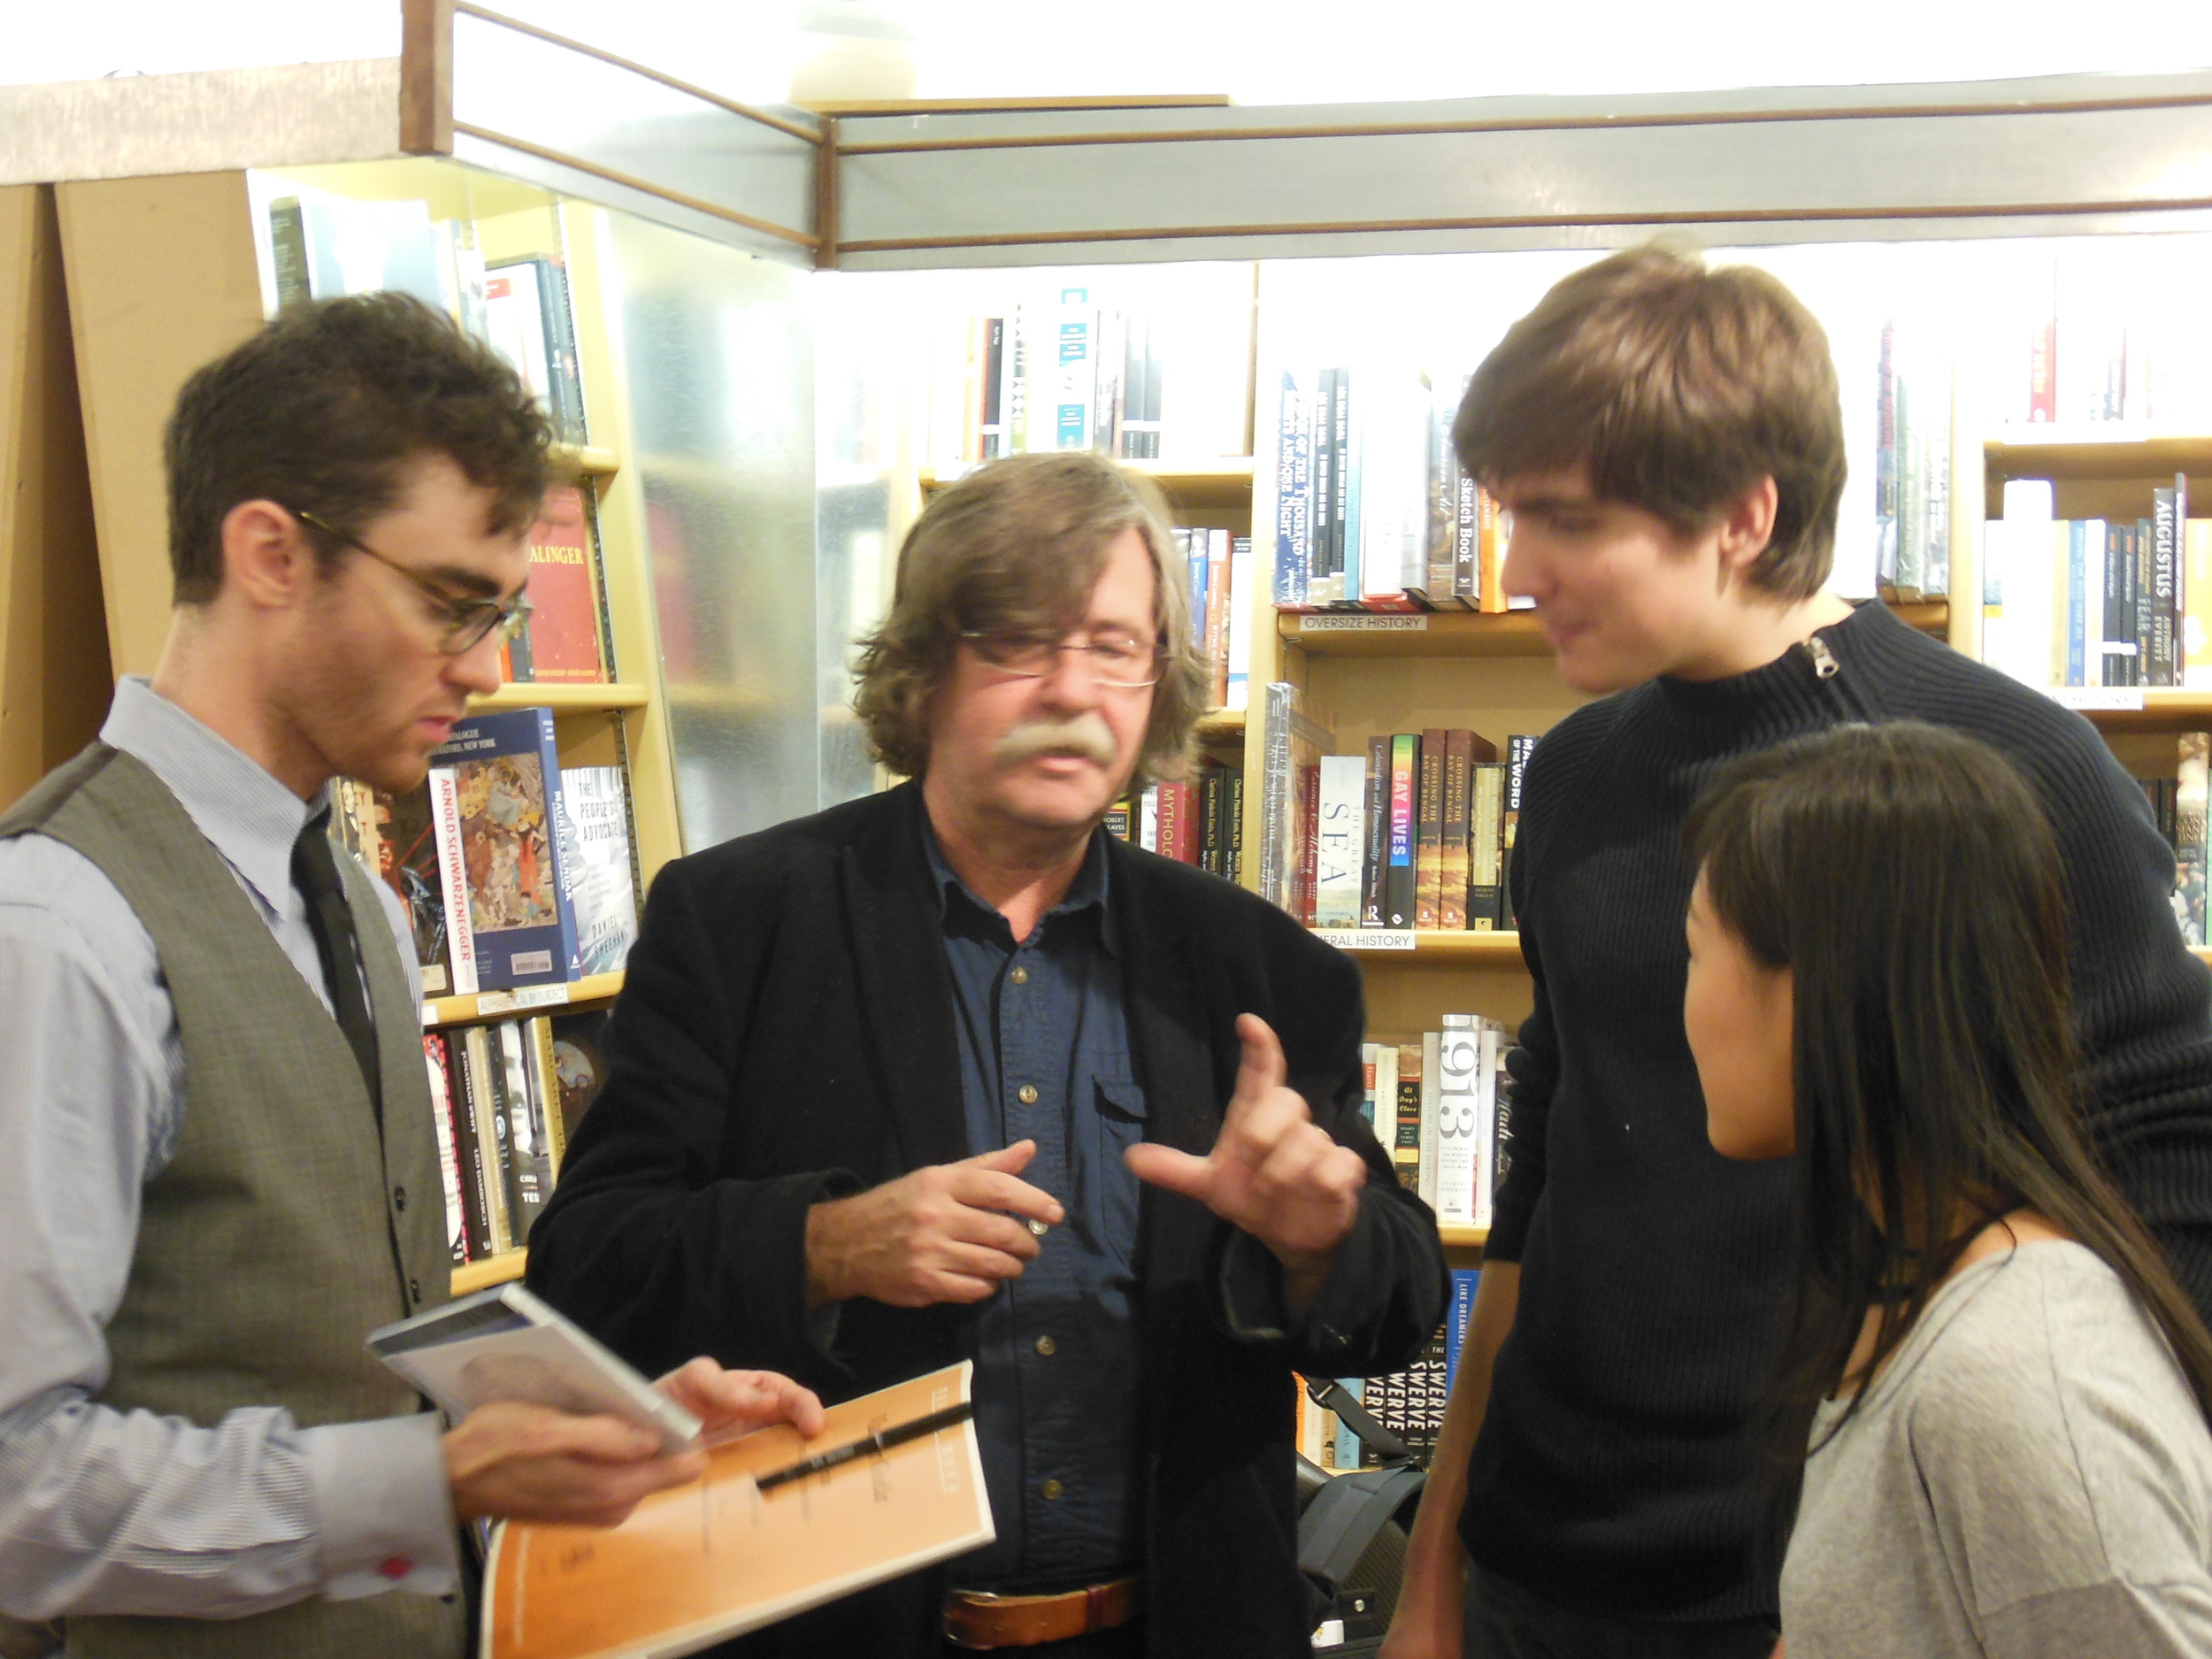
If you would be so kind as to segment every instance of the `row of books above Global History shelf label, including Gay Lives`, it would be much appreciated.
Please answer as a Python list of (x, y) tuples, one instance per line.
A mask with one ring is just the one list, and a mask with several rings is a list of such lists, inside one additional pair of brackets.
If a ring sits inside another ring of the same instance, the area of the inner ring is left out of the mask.
[(1279, 902), (1307, 927), (1511, 929), (1513, 836), (1533, 750), (1535, 737), (1509, 737), (1500, 759), (1480, 732), (1429, 728), (1369, 737), (1365, 754), (1292, 763), (1287, 787), (1265, 796), (1270, 814), (1287, 818), (1263, 823), (1285, 845)]

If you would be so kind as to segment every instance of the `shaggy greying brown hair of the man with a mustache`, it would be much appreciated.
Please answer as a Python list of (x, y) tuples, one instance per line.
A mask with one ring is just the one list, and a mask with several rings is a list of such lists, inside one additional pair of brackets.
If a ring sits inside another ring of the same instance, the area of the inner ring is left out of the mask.
[(1166, 657), (1133, 790), (1181, 776), (1206, 712), (1208, 672), (1190, 639), (1190, 575), (1168, 502), (1150, 478), (1088, 451), (1009, 456), (942, 489), (898, 549), (891, 615), (860, 641), (854, 712), (876, 759), (905, 776), (929, 765), (929, 699), (962, 633), (1068, 633), (1106, 568), (1106, 544), (1137, 531), (1152, 553), (1152, 619)]

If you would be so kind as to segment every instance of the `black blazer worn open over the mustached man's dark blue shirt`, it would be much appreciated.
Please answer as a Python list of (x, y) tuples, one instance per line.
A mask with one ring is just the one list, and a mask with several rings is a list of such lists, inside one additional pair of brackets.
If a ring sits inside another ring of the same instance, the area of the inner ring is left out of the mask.
[[(1292, 1088), (1369, 1168), (1329, 1283), (1267, 1338), (1230, 1334), (1232, 1228), (1152, 1188), (1139, 1212), (1150, 1652), (1290, 1659), (1310, 1652), (1290, 1371), (1407, 1365), (1444, 1316), (1444, 1254), (1358, 1110), (1356, 969), (1230, 883), (1121, 841), (1108, 860), (1146, 1137), (1212, 1148), (1250, 1011), (1281, 1035)], [(608, 1060), (531, 1230), (533, 1290), (648, 1376), (712, 1354), (841, 1400), (973, 1358), (969, 1307), (852, 1301), (823, 1347), (805, 1298), (810, 1203), (969, 1155), (916, 785), (670, 863)], [(1254, 1312), (1239, 1312), (1250, 1329)], [(916, 1573), (728, 1652), (933, 1659), (945, 1584), (942, 1568)]]

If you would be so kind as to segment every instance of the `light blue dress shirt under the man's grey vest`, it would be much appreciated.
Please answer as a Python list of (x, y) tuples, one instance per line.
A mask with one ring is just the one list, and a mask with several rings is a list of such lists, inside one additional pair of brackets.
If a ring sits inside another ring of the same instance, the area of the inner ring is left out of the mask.
[[(292, 887), (292, 843), (323, 803), (142, 679), (117, 686), (100, 737), (170, 787), (330, 1006)], [(420, 1000), (398, 896), (376, 891)], [(201, 1429), (95, 1402), (139, 1194), (190, 1102), (153, 940), (49, 836), (0, 841), (0, 1610), (237, 1617), (316, 1595), (451, 1593), (436, 1416), (301, 1429), (265, 1407)]]

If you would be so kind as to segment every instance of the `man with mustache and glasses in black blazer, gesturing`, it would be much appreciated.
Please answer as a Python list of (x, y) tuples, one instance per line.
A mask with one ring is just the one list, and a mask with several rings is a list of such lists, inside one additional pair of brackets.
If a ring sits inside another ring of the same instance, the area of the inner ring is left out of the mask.
[(1290, 1374), (1411, 1360), (1447, 1272), (1352, 964), (1102, 830), (1203, 710), (1172, 546), (1097, 456), (945, 489), (860, 657), (911, 781), (646, 905), (531, 1285), (825, 1396), (973, 1360), (998, 1526), (732, 1652), (1310, 1652)]

